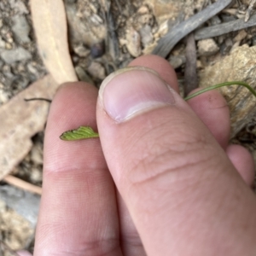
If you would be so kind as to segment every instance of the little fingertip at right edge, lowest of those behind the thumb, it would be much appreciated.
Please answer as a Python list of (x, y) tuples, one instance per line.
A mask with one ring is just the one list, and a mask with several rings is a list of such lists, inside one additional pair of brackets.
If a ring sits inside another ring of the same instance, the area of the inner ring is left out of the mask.
[(236, 167), (237, 172), (240, 173), (242, 179), (247, 183), (247, 185), (252, 187), (255, 177), (252, 154), (240, 145), (230, 145), (226, 152), (232, 164)]

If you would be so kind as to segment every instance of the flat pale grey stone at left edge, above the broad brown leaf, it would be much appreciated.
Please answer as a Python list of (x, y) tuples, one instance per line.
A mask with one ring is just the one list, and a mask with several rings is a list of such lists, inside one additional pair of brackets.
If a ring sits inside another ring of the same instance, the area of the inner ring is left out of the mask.
[(12, 64), (15, 61), (26, 61), (32, 58), (31, 53), (22, 47), (5, 49), (0, 53), (0, 56), (7, 64)]

